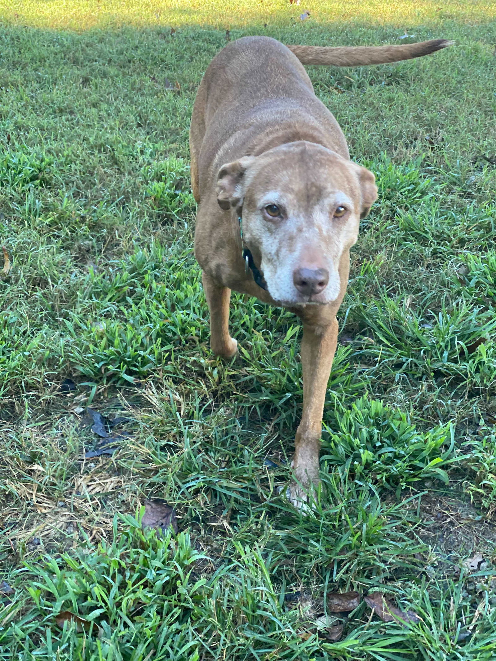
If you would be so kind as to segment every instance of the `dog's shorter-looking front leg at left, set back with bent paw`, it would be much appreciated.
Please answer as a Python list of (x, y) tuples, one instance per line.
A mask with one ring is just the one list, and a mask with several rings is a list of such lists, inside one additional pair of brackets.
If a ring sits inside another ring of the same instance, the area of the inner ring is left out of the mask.
[(232, 358), (237, 342), (229, 335), (229, 299), (231, 290), (202, 272), (203, 289), (210, 311), (210, 347), (216, 356)]

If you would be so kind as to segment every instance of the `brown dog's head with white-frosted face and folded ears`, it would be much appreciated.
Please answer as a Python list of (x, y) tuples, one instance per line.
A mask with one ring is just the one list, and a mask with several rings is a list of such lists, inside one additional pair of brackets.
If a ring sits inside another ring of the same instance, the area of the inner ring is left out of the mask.
[(243, 208), (243, 238), (275, 301), (337, 299), (339, 260), (377, 198), (371, 172), (300, 141), (227, 163), (216, 192), (222, 209)]

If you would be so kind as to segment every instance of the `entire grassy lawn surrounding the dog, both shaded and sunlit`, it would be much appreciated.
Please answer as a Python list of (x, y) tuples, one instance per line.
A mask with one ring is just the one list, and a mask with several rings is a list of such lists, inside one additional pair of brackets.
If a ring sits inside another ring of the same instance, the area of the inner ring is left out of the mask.
[[(227, 29), (456, 40), (309, 67), (380, 189), (339, 315), (315, 516), (279, 494), (296, 319), (234, 295), (239, 356), (208, 349), (187, 137)], [(0, 2), (1, 660), (494, 658), (495, 39), (477, 1)], [(112, 455), (84, 459), (87, 407), (125, 418)], [(142, 530), (149, 497), (178, 535)], [(419, 622), (331, 613), (349, 590)]]

